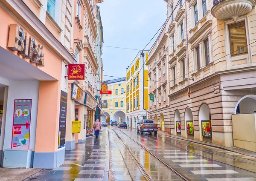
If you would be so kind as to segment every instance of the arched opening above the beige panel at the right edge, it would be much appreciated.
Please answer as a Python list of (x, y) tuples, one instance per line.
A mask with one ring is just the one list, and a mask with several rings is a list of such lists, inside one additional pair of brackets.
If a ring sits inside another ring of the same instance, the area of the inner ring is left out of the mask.
[(256, 111), (256, 95), (242, 97), (235, 107), (235, 114), (249, 114)]

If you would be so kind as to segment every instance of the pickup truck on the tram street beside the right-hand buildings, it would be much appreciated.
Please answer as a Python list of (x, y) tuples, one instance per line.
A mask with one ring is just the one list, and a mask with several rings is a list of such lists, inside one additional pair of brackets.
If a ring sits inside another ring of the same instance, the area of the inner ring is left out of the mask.
[(158, 125), (153, 120), (141, 120), (137, 124), (137, 133), (140, 132), (143, 135), (144, 132), (149, 132), (150, 134), (154, 132), (154, 135), (157, 135)]

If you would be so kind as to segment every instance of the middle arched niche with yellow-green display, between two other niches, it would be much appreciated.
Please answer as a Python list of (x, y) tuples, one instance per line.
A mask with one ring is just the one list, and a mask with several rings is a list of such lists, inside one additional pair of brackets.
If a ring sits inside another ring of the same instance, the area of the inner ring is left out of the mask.
[(185, 118), (186, 138), (194, 138), (193, 113), (189, 107), (187, 107), (187, 109), (185, 111), (184, 118)]

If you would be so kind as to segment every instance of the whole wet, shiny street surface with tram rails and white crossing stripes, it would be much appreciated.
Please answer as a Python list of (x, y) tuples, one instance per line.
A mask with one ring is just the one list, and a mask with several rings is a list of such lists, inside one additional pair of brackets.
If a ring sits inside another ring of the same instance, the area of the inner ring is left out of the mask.
[[(40, 173), (42, 173), (40, 175)], [(256, 158), (136, 129), (102, 128), (24, 181), (256, 181)]]

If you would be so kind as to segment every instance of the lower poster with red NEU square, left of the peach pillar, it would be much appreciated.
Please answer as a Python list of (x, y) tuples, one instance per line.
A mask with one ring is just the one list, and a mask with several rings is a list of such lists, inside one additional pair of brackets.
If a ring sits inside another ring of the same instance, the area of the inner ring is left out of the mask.
[(12, 131), (12, 148), (29, 149), (29, 131), (30, 126), (13, 126)]

